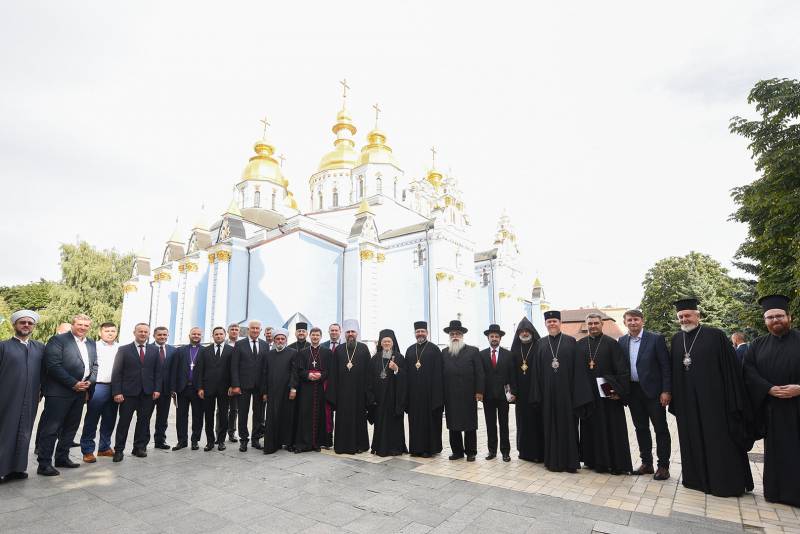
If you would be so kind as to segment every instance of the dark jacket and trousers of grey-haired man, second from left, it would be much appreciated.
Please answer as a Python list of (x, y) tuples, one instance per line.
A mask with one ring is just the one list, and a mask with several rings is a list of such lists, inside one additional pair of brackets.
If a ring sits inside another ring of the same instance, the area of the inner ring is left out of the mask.
[[(81, 357), (78, 341), (72, 332), (50, 338), (44, 349), (44, 379), (46, 391), (42, 413), (38, 460), (40, 466), (50, 466), (55, 449), (56, 464), (69, 461), (69, 448), (81, 424), (87, 391), (75, 391), (78, 382), (97, 381), (97, 349), (94, 341), (84, 340), (88, 366)], [(56, 445), (58, 440), (58, 445)]]

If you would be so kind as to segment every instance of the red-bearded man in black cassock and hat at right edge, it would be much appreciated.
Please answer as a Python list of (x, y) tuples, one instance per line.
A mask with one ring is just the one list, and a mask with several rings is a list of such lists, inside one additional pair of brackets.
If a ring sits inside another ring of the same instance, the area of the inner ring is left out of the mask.
[(744, 357), (744, 382), (764, 437), (764, 498), (800, 507), (800, 331), (791, 328), (789, 299), (759, 299), (769, 334)]

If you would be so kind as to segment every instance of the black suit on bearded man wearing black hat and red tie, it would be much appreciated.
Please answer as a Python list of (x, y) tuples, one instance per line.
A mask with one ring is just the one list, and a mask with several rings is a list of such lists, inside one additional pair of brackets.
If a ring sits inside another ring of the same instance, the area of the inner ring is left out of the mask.
[(497, 365), (492, 365), (491, 347), (481, 351), (481, 363), (486, 380), (483, 395), (483, 416), (486, 421), (486, 437), (489, 455), (497, 454), (497, 424), (500, 423), (500, 452), (503, 457), (511, 453), (511, 443), (508, 439), (508, 399), (506, 398), (506, 385), (511, 394), (516, 394), (514, 384), (514, 358), (511, 352), (503, 347), (497, 347)]

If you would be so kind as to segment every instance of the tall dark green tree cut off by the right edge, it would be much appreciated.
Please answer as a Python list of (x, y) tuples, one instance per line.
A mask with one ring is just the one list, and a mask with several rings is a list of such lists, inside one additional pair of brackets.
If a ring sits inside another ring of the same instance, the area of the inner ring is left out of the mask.
[(739, 247), (739, 264), (758, 278), (760, 295), (793, 297), (792, 315), (800, 318), (800, 82), (762, 80), (747, 97), (759, 120), (733, 117), (730, 131), (750, 141), (748, 148), (761, 176), (737, 187), (731, 218), (748, 226)]

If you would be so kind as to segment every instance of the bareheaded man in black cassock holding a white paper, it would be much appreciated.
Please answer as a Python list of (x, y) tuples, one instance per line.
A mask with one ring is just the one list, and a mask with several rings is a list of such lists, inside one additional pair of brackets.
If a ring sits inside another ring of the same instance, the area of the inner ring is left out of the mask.
[(588, 314), (586, 329), (589, 335), (578, 341), (578, 365), (586, 366), (594, 410), (580, 421), (581, 459), (598, 473), (629, 474), (633, 466), (624, 405), (630, 362), (617, 340), (603, 334), (602, 315)]

